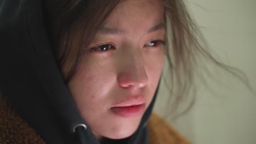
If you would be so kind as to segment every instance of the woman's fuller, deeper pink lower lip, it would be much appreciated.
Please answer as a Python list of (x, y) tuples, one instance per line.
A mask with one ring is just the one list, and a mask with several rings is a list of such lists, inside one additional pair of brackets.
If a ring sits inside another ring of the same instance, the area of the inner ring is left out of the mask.
[(124, 107), (111, 107), (110, 110), (112, 110), (112, 112), (122, 117), (137, 117), (142, 115), (144, 107), (145, 105), (141, 104)]

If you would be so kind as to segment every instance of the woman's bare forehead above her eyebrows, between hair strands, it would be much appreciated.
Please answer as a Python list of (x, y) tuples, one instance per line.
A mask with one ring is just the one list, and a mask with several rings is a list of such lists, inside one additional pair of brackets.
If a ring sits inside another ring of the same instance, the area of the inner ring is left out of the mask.
[(160, 0), (126, 0), (113, 9), (103, 27), (131, 33), (146, 31), (161, 22), (164, 23), (164, 14)]

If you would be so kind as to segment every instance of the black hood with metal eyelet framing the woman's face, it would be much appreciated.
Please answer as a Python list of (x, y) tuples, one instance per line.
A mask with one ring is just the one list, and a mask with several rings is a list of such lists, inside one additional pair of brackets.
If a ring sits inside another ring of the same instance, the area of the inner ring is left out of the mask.
[[(69, 95), (44, 28), (39, 0), (0, 0), (0, 91), (46, 143), (99, 143)], [(156, 91), (157, 93), (157, 91)], [(109, 143), (147, 143), (147, 120), (136, 133)], [(78, 136), (77, 124), (88, 126)]]

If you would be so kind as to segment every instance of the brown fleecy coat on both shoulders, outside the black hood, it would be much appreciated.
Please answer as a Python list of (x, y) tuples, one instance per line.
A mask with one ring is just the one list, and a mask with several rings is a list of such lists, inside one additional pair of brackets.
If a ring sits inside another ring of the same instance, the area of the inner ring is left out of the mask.
[[(189, 144), (154, 113), (148, 121), (149, 144)], [(45, 141), (22, 119), (0, 93), (0, 143), (44, 144)]]

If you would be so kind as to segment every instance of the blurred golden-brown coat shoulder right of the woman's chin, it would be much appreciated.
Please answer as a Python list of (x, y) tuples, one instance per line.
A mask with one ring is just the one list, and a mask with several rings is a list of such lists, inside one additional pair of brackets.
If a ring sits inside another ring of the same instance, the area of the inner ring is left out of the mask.
[(148, 121), (149, 144), (191, 144), (155, 113)]

